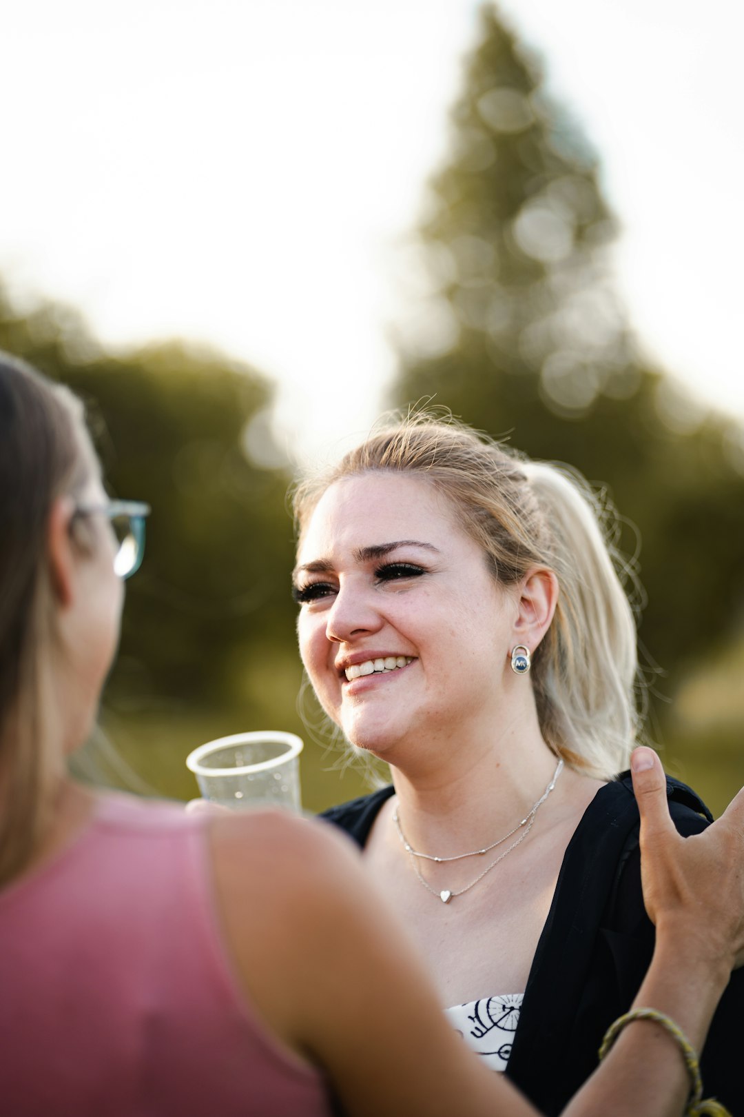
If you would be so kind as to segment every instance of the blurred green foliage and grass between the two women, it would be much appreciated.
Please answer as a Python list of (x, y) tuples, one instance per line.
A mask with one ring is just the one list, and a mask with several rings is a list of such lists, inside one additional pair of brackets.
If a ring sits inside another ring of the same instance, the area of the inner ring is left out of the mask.
[(306, 742), (308, 810), (354, 798), (310, 701), (289, 593), (292, 525), (284, 467), (264, 418), (271, 386), (254, 370), (178, 343), (103, 352), (79, 316), (50, 303), (21, 312), (0, 286), (0, 349), (73, 388), (110, 491), (147, 500), (145, 562), (127, 583), (120, 652), (77, 774), (142, 793), (196, 795), (186, 754), (231, 733), (280, 728)]

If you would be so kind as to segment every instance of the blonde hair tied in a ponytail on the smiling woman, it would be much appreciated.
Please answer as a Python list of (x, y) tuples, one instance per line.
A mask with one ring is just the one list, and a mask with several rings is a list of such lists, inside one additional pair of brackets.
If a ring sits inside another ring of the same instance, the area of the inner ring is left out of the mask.
[(608, 780), (626, 768), (639, 722), (636, 626), (615, 541), (602, 531), (607, 505), (569, 467), (530, 461), (454, 419), (418, 412), (374, 430), (298, 486), (299, 533), (330, 485), (370, 470), (415, 474), (447, 497), (501, 584), (538, 565), (555, 573), (558, 605), (531, 671), (542, 735), (578, 771)]

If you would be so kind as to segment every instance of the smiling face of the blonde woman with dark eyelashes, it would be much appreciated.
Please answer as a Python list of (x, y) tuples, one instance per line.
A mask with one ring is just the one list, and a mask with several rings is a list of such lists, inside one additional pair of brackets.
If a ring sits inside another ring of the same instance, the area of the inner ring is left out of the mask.
[(377, 471), (331, 485), (294, 585), (302, 662), (352, 744), (390, 758), (404, 741), (451, 742), (499, 716), (516, 599), (427, 481)]

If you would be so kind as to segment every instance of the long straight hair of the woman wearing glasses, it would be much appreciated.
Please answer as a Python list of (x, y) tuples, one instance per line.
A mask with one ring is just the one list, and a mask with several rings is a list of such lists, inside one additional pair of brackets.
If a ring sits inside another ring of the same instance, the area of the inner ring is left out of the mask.
[(40, 841), (62, 766), (48, 732), (49, 513), (97, 469), (79, 400), (0, 354), (0, 882)]

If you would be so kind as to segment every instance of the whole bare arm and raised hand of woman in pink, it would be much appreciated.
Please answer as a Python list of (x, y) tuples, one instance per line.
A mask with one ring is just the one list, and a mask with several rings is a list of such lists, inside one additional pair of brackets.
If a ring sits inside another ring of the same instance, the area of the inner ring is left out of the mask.
[[(635, 781), (658, 928), (636, 1004), (668, 1013), (699, 1050), (728, 973), (744, 961), (744, 795), (704, 834), (682, 839), (658, 760)], [(534, 1117), (450, 1029), (414, 946), (345, 839), (300, 820), (231, 819), (218, 828), (215, 872), (249, 996), (281, 1041), (326, 1069), (351, 1117)], [(687, 1092), (674, 1042), (634, 1023), (567, 1115), (678, 1117)]]

